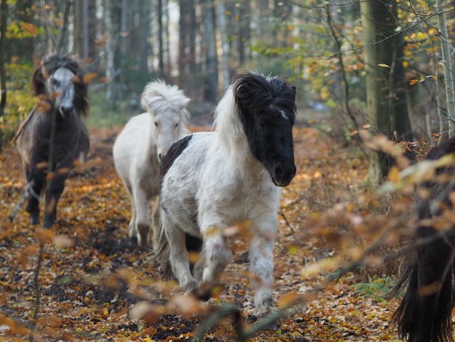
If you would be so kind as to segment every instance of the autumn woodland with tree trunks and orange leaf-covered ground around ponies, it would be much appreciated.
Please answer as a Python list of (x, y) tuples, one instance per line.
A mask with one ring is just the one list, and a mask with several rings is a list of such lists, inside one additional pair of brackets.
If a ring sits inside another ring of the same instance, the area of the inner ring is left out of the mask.
[[(278, 331), (252, 339), (395, 339), (398, 298), (384, 296), (423, 180), (403, 169), (454, 128), (454, 3), (79, 0), (66, 20), (67, 5), (1, 0), (0, 341), (180, 341), (215, 322), (204, 341), (246, 341), (259, 330), (249, 320), (247, 240), (233, 242), (216, 298), (182, 298), (129, 244), (129, 203), (111, 157), (122, 125), (142, 113), (147, 82), (183, 88), (191, 130), (209, 130), (242, 70), (298, 86), (298, 174), (283, 189), (275, 245), (284, 311)], [(23, 209), (7, 220), (26, 185), (10, 140), (37, 103), (32, 69), (56, 50), (90, 73), (92, 149), (47, 231), (29, 227)]]

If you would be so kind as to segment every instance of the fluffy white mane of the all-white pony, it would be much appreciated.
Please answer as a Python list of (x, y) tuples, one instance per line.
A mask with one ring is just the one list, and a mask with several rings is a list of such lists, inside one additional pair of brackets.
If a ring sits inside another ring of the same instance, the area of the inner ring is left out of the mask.
[(190, 121), (190, 113), (185, 108), (188, 102), (188, 97), (181, 89), (175, 85), (166, 84), (162, 79), (149, 82), (141, 95), (142, 108), (148, 113), (162, 111), (179, 113), (180, 120), (182, 120), (182, 124), (179, 125), (181, 130), (185, 129)]

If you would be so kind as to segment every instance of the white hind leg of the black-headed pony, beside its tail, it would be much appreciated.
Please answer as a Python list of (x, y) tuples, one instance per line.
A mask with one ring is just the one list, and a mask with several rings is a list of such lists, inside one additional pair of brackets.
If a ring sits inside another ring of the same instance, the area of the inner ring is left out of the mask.
[(163, 227), (169, 244), (169, 260), (171, 261), (172, 272), (186, 293), (191, 293), (197, 287), (197, 283), (190, 272), (190, 260), (188, 259), (188, 251), (186, 251), (185, 245), (185, 232), (177, 225), (169, 222), (164, 212), (162, 212), (162, 215)]

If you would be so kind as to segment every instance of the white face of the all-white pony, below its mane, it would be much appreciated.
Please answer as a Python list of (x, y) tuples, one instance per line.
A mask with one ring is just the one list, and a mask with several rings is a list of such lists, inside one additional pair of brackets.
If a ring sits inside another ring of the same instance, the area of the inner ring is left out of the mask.
[(157, 146), (157, 158), (162, 162), (169, 149), (180, 136), (179, 113), (159, 113), (153, 117), (155, 126), (155, 139)]

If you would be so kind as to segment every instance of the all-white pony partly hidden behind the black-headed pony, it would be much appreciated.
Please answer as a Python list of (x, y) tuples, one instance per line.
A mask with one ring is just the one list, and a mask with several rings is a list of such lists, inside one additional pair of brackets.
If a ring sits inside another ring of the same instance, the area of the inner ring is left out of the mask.
[(115, 140), (115, 169), (131, 202), (130, 238), (149, 247), (150, 202), (159, 193), (159, 168), (171, 145), (187, 135), (190, 99), (177, 86), (162, 80), (150, 82), (142, 93), (147, 113), (131, 118)]

